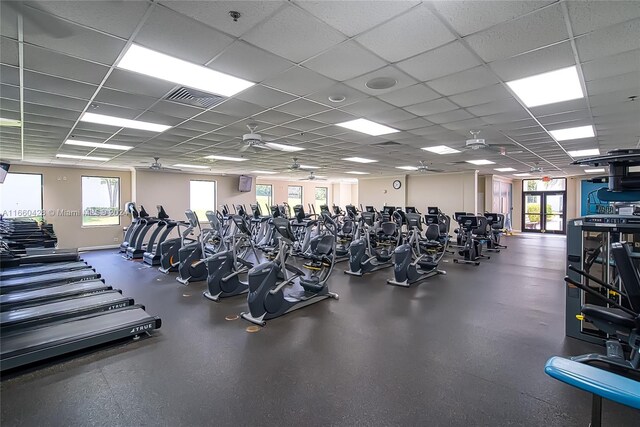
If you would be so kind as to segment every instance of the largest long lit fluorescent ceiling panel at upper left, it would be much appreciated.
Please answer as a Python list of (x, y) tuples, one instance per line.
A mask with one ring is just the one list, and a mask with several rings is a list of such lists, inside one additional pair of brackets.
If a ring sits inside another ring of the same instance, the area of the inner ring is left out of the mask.
[(223, 96), (235, 95), (255, 84), (137, 44), (127, 49), (118, 68)]

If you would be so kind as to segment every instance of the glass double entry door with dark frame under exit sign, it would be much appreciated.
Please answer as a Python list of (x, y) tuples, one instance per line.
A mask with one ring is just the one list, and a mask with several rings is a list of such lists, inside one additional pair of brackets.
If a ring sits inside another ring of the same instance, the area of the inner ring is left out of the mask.
[(524, 192), (523, 231), (565, 233), (566, 197), (564, 191)]

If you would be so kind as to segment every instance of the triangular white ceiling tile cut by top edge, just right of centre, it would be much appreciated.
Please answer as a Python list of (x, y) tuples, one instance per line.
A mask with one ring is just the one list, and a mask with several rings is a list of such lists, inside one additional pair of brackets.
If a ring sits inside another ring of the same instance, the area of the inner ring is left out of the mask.
[(353, 37), (361, 32), (403, 13), (417, 1), (303, 1), (300, 7), (322, 21)]

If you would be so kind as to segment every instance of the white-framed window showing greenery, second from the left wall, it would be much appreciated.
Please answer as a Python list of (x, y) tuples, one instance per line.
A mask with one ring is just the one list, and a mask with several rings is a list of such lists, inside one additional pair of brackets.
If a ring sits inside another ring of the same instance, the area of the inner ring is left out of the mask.
[(120, 178), (82, 177), (82, 226), (120, 225)]

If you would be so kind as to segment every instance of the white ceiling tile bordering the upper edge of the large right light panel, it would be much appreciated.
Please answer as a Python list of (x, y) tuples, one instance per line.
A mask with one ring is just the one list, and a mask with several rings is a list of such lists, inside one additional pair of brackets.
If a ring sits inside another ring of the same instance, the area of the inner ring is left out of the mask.
[(529, 77), (575, 65), (570, 42), (492, 62), (489, 66), (504, 81)]

